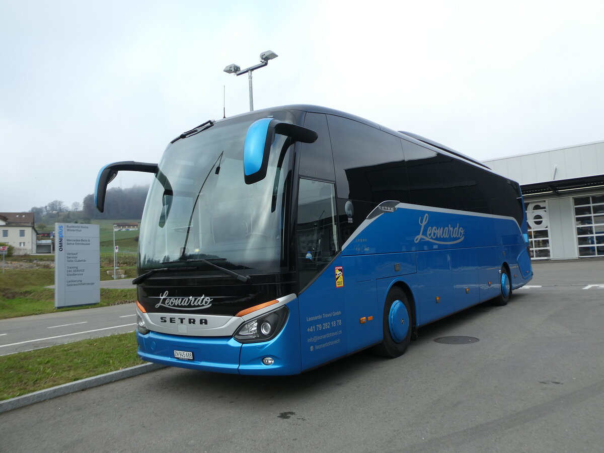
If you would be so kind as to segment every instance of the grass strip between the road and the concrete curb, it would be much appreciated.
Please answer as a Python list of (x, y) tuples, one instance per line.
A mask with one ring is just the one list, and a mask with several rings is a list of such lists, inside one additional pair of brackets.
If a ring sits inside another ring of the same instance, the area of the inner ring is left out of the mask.
[(0, 356), (0, 400), (143, 363), (134, 332)]

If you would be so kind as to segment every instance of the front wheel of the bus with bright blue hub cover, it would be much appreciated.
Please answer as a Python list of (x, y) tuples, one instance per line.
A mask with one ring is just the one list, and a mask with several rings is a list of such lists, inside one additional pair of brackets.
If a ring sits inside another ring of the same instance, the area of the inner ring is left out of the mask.
[(382, 357), (403, 355), (411, 339), (411, 309), (406, 294), (400, 288), (388, 292), (384, 303), (384, 340), (373, 347), (373, 352)]

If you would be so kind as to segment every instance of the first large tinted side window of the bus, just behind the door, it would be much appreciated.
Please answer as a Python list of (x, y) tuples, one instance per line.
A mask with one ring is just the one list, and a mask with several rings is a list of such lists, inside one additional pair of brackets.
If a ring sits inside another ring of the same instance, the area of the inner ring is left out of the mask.
[(338, 198), (379, 203), (408, 201), (400, 139), (358, 121), (327, 116)]

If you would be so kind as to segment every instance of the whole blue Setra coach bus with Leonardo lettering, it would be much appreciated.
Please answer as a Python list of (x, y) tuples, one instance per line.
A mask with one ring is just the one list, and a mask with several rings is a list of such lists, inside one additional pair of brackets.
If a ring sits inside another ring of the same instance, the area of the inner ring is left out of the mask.
[(188, 130), (141, 221), (138, 353), (239, 374), (297, 374), (532, 278), (519, 185), (442, 144), (344, 112), (284, 106)]

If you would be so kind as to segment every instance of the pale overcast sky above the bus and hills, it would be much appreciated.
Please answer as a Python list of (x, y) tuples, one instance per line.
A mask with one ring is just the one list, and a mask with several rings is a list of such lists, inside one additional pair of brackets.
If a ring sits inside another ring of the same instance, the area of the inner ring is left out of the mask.
[[(208, 119), (309, 103), (478, 159), (604, 140), (604, 2), (0, 0), (0, 211)], [(110, 187), (149, 182), (120, 173)]]

